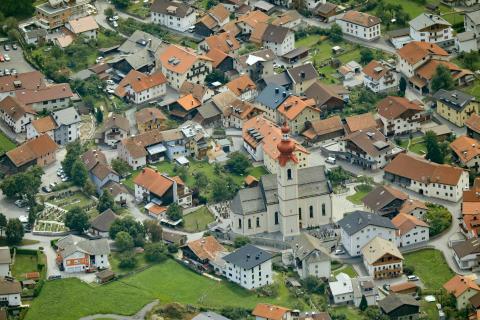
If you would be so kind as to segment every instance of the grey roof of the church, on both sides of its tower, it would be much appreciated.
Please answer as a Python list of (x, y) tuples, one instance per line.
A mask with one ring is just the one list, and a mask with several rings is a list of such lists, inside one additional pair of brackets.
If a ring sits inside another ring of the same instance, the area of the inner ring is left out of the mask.
[[(298, 170), (298, 196), (300, 198), (316, 197), (330, 192), (324, 166)], [(241, 215), (265, 212), (267, 205), (278, 203), (277, 193), (277, 176), (267, 174), (261, 177), (258, 186), (239, 190), (233, 198), (230, 208), (235, 214)]]

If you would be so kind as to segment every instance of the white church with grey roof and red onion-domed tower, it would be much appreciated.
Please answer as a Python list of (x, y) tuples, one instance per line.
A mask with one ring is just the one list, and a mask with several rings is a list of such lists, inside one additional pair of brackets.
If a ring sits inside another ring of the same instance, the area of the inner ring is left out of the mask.
[(284, 240), (302, 229), (332, 222), (332, 187), (324, 166), (299, 168), (289, 128), (282, 127), (277, 174), (238, 191), (231, 202), (232, 231), (244, 236), (280, 233)]

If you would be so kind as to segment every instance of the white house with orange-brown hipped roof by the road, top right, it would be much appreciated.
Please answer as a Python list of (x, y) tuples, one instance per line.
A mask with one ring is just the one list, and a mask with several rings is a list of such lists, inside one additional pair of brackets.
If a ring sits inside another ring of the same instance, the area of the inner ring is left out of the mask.
[(380, 22), (375, 16), (353, 10), (347, 11), (343, 17), (336, 20), (344, 34), (367, 41), (380, 38)]

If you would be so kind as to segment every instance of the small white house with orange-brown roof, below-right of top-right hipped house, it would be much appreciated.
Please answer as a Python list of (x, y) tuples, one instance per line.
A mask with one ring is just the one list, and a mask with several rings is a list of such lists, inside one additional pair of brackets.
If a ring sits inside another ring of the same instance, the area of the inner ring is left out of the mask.
[(400, 83), (400, 74), (395, 65), (386, 61), (370, 61), (362, 69), (363, 85), (375, 93), (396, 91)]

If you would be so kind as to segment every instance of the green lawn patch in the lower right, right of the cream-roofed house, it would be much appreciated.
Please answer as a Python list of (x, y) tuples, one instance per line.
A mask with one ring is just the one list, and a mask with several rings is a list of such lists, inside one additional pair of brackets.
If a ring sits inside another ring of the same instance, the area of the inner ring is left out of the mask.
[(404, 265), (415, 268), (415, 275), (420, 278), (427, 289), (440, 289), (455, 275), (441, 251), (424, 249), (407, 253), (404, 258)]

